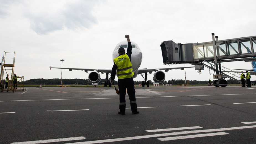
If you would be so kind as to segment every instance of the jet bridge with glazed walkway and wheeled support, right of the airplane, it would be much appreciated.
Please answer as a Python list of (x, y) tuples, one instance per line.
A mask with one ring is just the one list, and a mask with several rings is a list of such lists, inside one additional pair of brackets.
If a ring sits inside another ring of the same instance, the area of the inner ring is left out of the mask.
[[(216, 39), (215, 39), (216, 38)], [(175, 43), (172, 40), (160, 44), (163, 64), (172, 65), (190, 63), (201, 74), (204, 66), (214, 70), (214, 86), (227, 86), (224, 78), (233, 79), (239, 83), (240, 74), (221, 66), (221, 62), (256, 61), (256, 36), (218, 40), (212, 33), (211, 42)]]

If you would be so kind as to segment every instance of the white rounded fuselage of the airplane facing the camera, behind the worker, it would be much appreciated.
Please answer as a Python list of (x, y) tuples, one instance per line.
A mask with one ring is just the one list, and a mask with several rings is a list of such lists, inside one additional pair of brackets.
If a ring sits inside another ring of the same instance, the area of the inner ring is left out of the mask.
[[(131, 63), (132, 63), (132, 70), (134, 72), (133, 78), (135, 78), (138, 74), (138, 70), (139, 70), (139, 67), (141, 64), (142, 52), (141, 52), (139, 46), (135, 42), (131, 41), (131, 44), (132, 44)], [(125, 53), (126, 53), (127, 52), (127, 40), (122, 41), (116, 45), (116, 48), (113, 51), (112, 59), (119, 56), (118, 49), (120, 47), (123, 47), (125, 50)]]

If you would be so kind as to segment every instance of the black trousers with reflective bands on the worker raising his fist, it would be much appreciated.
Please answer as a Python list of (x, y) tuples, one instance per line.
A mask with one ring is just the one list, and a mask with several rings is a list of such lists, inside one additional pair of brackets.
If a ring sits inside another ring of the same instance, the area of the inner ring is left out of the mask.
[(119, 87), (119, 101), (120, 101), (119, 110), (120, 110), (120, 112), (125, 112), (126, 89), (127, 89), (127, 94), (129, 96), (129, 100), (130, 100), (131, 109), (132, 109), (132, 111), (136, 111), (137, 110), (137, 102), (136, 102), (136, 97), (135, 97), (133, 78), (118, 79), (118, 87)]

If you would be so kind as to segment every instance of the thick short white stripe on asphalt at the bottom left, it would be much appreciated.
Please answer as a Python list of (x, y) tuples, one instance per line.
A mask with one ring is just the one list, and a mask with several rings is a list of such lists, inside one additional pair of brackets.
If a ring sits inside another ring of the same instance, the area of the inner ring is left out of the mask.
[(65, 142), (65, 141), (72, 141), (72, 140), (85, 140), (85, 137), (71, 137), (71, 138), (58, 138), (58, 139), (50, 139), (50, 140), (36, 140), (36, 141), (29, 141), (29, 142), (16, 142), (11, 144), (37, 144), (37, 143), (55, 143), (55, 142)]

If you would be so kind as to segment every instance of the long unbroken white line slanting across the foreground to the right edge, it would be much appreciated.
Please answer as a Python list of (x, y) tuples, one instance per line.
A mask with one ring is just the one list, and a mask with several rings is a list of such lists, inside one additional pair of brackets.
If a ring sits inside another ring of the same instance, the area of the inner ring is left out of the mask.
[(208, 129), (208, 130), (171, 132), (171, 133), (161, 133), (161, 134), (154, 134), (154, 135), (143, 135), (143, 136), (126, 137), (126, 138), (113, 138), (113, 139), (107, 139), (107, 140), (95, 140), (95, 141), (88, 141), (88, 142), (77, 142), (77, 143), (66, 143), (66, 144), (92, 144), (92, 143), (119, 142), (119, 141), (136, 140), (136, 139), (142, 139), (142, 138), (164, 137), (164, 136), (170, 136), (170, 135), (183, 135), (183, 134), (190, 134), (190, 133), (218, 132), (218, 131), (225, 131), (225, 130), (245, 129), (245, 128), (256, 128), (256, 125), (243, 126), (243, 127), (217, 128), (217, 129)]

